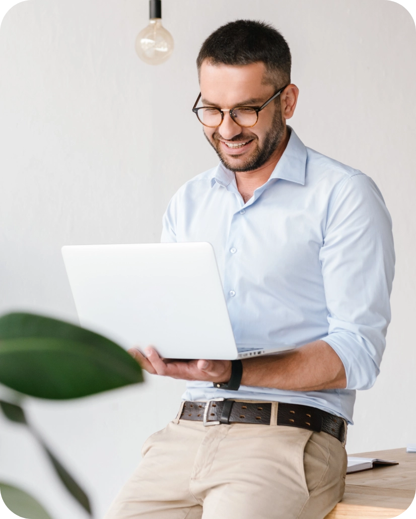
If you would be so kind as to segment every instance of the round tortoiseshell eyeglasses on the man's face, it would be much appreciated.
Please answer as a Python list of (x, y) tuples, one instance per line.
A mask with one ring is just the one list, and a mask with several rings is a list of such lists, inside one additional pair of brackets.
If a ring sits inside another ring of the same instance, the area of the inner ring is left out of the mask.
[[(231, 108), (230, 117), (234, 122), (243, 128), (251, 128), (258, 120), (258, 113), (266, 108), (266, 106), (273, 101), (283, 90), (287, 87), (281, 88), (279, 92), (276, 92), (266, 103), (261, 106), (236, 106)], [(201, 93), (198, 95), (198, 99), (193, 105), (192, 112), (197, 115), (198, 120), (202, 122), (204, 126), (209, 128), (216, 128), (224, 120), (224, 112), (221, 108), (215, 108), (214, 106), (200, 106), (196, 108), (198, 101), (201, 99)]]

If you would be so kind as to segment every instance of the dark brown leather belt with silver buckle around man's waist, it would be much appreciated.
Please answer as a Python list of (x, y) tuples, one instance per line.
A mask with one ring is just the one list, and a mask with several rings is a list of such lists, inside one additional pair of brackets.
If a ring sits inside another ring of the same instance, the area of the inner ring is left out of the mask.
[[(204, 425), (264, 424), (270, 425), (271, 402), (242, 402), (215, 399), (208, 402), (184, 402), (181, 420), (200, 420)], [(316, 407), (278, 404), (277, 425), (301, 427), (314, 432), (327, 432), (340, 442), (345, 438), (345, 421)]]

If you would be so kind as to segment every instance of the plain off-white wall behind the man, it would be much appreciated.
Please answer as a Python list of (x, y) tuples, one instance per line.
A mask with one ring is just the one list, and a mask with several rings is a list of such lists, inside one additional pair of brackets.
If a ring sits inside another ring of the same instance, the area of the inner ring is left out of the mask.
[[(195, 59), (207, 35), (237, 18), (282, 31), (300, 88), (290, 124), (307, 146), (370, 175), (392, 214), (393, 319), (377, 383), (357, 393), (347, 450), (403, 447), (416, 441), (416, 28), (393, 0), (164, 0), (175, 50), (156, 67), (134, 51), (147, 0), (11, 5), (0, 25), (0, 312), (76, 320), (63, 244), (159, 240), (176, 189), (217, 163), (190, 110)], [(183, 387), (148, 376), (142, 386), (30, 400), (26, 409), (102, 517), (144, 440), (176, 414)], [(31, 436), (1, 416), (0, 460), (0, 479), (31, 491), (54, 517), (86, 517)]]

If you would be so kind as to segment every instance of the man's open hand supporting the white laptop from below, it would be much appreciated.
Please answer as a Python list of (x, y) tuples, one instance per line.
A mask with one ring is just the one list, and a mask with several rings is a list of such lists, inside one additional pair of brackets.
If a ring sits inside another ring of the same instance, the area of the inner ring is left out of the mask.
[(161, 359), (155, 349), (151, 347), (145, 348), (146, 357), (137, 348), (130, 348), (128, 352), (143, 370), (152, 375), (215, 383), (228, 382), (231, 378), (230, 360)]

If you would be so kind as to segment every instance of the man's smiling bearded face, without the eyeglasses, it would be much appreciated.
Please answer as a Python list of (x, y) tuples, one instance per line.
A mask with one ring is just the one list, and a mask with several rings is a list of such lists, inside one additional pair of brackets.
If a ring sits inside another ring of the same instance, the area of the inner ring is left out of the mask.
[(204, 133), (225, 167), (231, 171), (260, 168), (284, 138), (285, 122), (280, 97), (259, 112), (257, 123), (251, 128), (242, 128), (229, 114), (229, 110), (236, 106), (261, 106), (284, 86), (267, 83), (265, 72), (264, 63), (242, 66), (202, 63), (202, 104), (224, 111), (222, 124), (216, 128), (204, 126)]

